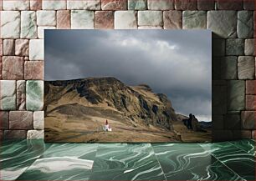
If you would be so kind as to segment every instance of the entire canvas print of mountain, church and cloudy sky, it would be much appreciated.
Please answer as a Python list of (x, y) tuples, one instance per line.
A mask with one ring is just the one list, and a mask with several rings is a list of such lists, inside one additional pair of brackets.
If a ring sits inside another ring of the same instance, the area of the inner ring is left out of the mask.
[(210, 142), (208, 30), (45, 30), (45, 141)]

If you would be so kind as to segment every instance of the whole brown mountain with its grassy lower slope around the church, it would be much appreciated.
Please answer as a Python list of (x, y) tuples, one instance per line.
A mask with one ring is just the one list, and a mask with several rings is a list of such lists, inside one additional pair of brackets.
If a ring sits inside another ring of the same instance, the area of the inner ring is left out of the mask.
[[(177, 115), (171, 101), (146, 84), (128, 86), (108, 77), (45, 81), (44, 88), (46, 139), (179, 140), (173, 132)], [(113, 128), (108, 138), (102, 132), (105, 119)]]

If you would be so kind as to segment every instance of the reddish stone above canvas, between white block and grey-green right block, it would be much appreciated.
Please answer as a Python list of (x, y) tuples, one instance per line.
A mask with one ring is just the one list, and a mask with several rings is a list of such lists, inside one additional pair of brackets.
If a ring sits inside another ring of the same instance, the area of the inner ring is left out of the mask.
[(165, 29), (182, 29), (182, 11), (164, 11), (163, 23)]

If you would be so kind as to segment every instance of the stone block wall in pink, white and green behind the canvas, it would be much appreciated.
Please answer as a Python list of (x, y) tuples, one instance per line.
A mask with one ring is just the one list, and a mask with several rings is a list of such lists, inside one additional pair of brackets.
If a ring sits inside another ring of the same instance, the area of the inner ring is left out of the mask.
[(211, 29), (213, 140), (255, 138), (253, 0), (0, 0), (0, 137), (44, 138), (44, 29)]

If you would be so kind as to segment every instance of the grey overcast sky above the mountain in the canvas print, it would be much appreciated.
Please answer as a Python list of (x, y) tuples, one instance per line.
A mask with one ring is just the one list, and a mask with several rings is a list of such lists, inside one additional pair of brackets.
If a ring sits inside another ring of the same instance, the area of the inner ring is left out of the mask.
[(212, 120), (209, 30), (45, 30), (45, 80), (111, 76), (165, 93), (177, 113)]

